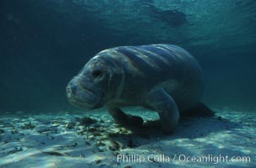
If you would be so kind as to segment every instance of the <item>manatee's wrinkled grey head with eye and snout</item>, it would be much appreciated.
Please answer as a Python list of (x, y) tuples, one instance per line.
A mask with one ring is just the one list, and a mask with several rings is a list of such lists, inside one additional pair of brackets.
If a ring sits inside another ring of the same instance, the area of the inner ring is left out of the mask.
[(85, 109), (101, 108), (106, 103), (110, 68), (99, 55), (89, 60), (66, 87), (68, 102)]

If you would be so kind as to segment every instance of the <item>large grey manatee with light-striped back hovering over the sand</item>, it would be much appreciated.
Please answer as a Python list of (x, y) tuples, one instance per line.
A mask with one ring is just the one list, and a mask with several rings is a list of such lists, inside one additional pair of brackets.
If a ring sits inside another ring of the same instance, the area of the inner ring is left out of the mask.
[(199, 102), (202, 70), (187, 50), (177, 45), (119, 46), (91, 58), (66, 88), (68, 102), (84, 109), (106, 107), (116, 123), (143, 126), (143, 119), (120, 108), (155, 110), (164, 134), (171, 134), (182, 116), (212, 115)]

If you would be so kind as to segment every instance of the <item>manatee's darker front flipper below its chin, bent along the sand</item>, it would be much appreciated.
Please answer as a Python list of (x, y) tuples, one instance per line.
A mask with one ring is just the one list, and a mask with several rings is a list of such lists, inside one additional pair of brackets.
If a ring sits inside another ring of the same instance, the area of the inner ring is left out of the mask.
[(123, 113), (120, 108), (107, 108), (108, 113), (112, 115), (115, 122), (123, 126), (142, 127), (143, 119), (138, 116)]

